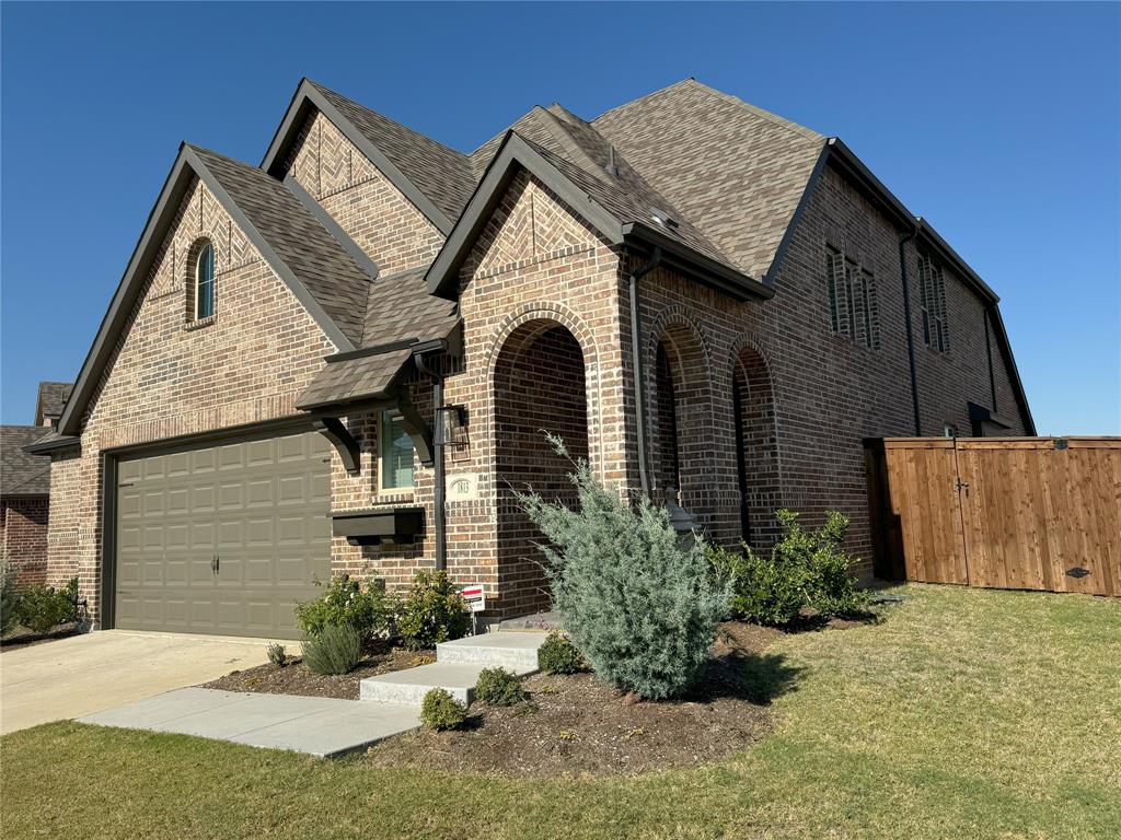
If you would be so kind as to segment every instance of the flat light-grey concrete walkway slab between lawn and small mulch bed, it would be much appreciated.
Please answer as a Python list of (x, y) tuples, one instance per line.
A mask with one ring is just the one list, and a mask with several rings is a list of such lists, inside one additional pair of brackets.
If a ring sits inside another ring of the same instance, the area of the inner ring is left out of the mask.
[(293, 694), (178, 689), (80, 718), (80, 724), (178, 732), (330, 758), (420, 726), (416, 706)]

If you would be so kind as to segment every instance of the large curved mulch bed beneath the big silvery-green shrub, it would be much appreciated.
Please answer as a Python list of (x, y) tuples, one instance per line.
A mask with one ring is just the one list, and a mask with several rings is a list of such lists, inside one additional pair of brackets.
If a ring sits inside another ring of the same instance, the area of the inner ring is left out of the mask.
[(527, 702), (474, 703), (465, 729), (406, 732), (364, 760), (510, 776), (633, 775), (717, 760), (767, 735), (770, 700), (795, 688), (798, 669), (763, 652), (781, 636), (722, 625), (704, 678), (675, 702), (638, 700), (592, 674), (536, 674), (522, 683)]

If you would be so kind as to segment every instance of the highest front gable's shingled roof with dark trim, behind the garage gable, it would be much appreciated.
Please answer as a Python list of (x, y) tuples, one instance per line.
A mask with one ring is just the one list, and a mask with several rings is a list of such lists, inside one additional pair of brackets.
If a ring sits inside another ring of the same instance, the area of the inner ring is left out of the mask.
[(447, 235), (475, 177), (466, 155), (401, 125), (309, 78), (300, 81), (261, 169), (281, 178), (299, 130), (317, 110), (350, 140), (436, 228)]

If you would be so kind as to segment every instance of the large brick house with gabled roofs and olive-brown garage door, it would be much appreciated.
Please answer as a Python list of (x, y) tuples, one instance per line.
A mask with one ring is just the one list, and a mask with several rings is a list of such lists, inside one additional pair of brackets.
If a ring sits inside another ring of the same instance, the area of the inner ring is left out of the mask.
[(293, 635), (313, 579), (547, 603), (568, 463), (715, 541), (853, 520), (862, 439), (1034, 433), (995, 293), (839, 139), (694, 80), (462, 153), (303, 81), (183, 144), (57, 428), (48, 572), (102, 627)]

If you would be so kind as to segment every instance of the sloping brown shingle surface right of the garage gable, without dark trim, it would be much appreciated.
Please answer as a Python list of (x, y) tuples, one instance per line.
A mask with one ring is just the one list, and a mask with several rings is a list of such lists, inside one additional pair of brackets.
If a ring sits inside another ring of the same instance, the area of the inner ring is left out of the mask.
[(369, 276), (281, 181), (248, 164), (191, 148), (343, 335), (361, 344)]

